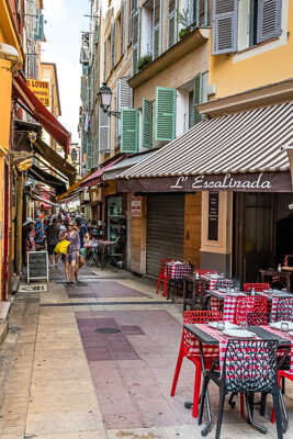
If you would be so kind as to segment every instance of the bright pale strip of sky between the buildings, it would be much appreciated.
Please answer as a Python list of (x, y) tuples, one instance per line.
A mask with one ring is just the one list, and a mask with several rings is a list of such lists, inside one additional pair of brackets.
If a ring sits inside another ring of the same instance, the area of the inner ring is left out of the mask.
[(89, 0), (44, 0), (46, 43), (42, 44), (42, 60), (56, 63), (61, 104), (60, 123), (79, 142), (80, 105), (79, 64), (81, 31), (89, 30)]

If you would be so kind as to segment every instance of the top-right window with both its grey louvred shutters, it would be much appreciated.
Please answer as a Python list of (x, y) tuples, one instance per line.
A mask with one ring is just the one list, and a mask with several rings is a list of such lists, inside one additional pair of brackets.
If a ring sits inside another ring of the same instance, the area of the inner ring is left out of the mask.
[(213, 5), (214, 55), (281, 35), (282, 0), (214, 0)]

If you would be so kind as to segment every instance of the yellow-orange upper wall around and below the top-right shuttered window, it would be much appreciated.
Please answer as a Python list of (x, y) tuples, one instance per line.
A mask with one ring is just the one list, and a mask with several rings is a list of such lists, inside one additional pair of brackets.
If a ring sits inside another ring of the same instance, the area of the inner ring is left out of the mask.
[[(216, 86), (213, 99), (268, 86), (293, 77), (293, 1), (283, 0), (283, 35), (241, 54), (210, 55), (210, 83)], [(284, 26), (284, 23), (286, 26)], [(286, 40), (280, 45), (281, 38)], [(212, 38), (211, 38), (212, 40)], [(279, 43), (279, 46), (277, 46)], [(271, 48), (270, 47), (274, 47)], [(211, 42), (212, 52), (212, 42)], [(210, 53), (211, 53), (210, 52)]]

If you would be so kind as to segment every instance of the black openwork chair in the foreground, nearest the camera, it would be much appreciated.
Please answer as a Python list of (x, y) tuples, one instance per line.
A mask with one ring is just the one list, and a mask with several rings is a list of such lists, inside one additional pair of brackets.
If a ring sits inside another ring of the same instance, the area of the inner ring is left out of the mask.
[(275, 340), (228, 340), (222, 373), (215, 371), (216, 364), (218, 365), (216, 362), (210, 371), (205, 371), (199, 416), (199, 425), (201, 425), (206, 402), (209, 423), (202, 431), (203, 436), (207, 435), (212, 425), (207, 387), (210, 381), (213, 381), (219, 387), (215, 439), (221, 437), (225, 397), (228, 393), (245, 394), (249, 424), (260, 432), (266, 434), (267, 429), (257, 424), (252, 417), (253, 395), (262, 392), (272, 395), (277, 437), (278, 439), (283, 438), (280, 407), (282, 395), (278, 386), (277, 350), (278, 341)]

